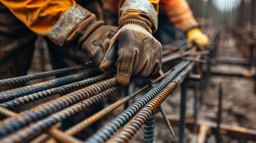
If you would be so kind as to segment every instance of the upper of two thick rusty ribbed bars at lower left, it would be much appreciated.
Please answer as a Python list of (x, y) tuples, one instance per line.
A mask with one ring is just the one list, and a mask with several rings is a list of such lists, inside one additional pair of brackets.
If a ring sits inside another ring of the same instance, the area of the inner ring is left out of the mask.
[(88, 86), (87, 88), (80, 89), (70, 94), (64, 95), (63, 97), (57, 98), (45, 102), (44, 104), (33, 107), (29, 111), (20, 113), (17, 117), (8, 118), (4, 124), (0, 125), (0, 136), (5, 136), (8, 133), (15, 132), (18, 129), (24, 128), (31, 122), (40, 120), (50, 114), (53, 114), (69, 105), (75, 104), (79, 101), (85, 100), (85, 98), (91, 95), (98, 94), (108, 88), (118, 85), (116, 77), (109, 79), (94, 85)]

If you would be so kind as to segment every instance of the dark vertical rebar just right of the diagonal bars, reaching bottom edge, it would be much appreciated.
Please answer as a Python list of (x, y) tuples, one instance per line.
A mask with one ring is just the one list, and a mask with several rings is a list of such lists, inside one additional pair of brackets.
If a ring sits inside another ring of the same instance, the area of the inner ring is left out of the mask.
[(185, 142), (185, 128), (186, 128), (186, 100), (187, 100), (187, 80), (181, 83), (181, 100), (180, 100), (180, 134), (179, 142)]

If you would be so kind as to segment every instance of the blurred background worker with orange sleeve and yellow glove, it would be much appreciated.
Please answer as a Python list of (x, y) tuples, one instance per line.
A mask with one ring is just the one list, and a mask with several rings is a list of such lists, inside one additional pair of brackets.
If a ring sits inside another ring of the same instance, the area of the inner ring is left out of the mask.
[[(118, 1), (106, 1), (106, 23), (116, 25), (118, 17)], [(167, 20), (166, 20), (167, 19)], [(199, 29), (199, 24), (193, 17), (186, 0), (159, 0), (159, 27), (154, 34), (162, 44), (173, 42), (175, 35), (180, 31), (187, 38), (187, 43), (195, 43), (199, 48), (205, 50), (209, 44), (209, 39)], [(172, 29), (175, 27), (176, 29)]]

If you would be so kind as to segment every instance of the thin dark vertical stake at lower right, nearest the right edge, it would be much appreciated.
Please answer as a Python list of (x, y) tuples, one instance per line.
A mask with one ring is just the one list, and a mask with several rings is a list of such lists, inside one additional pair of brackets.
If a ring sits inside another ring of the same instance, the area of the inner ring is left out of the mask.
[(218, 114), (217, 114), (217, 131), (216, 142), (220, 142), (220, 123), (221, 123), (221, 102), (222, 102), (222, 84), (220, 83), (220, 89), (218, 91)]

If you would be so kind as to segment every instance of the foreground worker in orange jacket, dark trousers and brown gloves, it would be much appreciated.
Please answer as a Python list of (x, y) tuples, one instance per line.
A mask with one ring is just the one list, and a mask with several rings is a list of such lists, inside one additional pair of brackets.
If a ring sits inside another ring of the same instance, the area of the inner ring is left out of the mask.
[[(101, 21), (102, 9), (97, 0), (0, 1), (1, 79), (27, 73), (37, 35), (47, 38), (54, 69), (73, 62), (81, 64), (79, 58), (84, 55), (73, 54), (76, 49), (84, 51), (103, 70), (116, 64), (121, 85), (127, 85), (131, 75), (149, 76), (161, 69), (162, 46), (152, 36), (158, 27), (156, 0), (120, 1), (119, 28)], [(102, 105), (95, 104), (64, 120), (61, 129), (85, 119)], [(97, 126), (100, 124), (92, 125), (91, 130), (85, 130), (78, 138), (86, 138)]]

